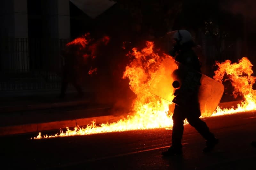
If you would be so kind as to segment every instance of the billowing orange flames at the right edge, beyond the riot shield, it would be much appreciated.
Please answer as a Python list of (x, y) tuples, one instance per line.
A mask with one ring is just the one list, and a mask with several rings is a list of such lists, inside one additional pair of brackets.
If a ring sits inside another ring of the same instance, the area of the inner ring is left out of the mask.
[[(231, 109), (223, 109), (217, 107), (214, 115), (232, 114), (237, 112), (245, 112), (256, 110), (256, 91), (252, 89), (256, 77), (252, 76), (252, 63), (247, 57), (243, 57), (238, 63), (231, 64), (230, 60), (223, 63), (216, 62), (218, 70), (216, 70), (213, 78), (219, 82), (226, 81), (225, 76), (231, 81), (234, 87), (233, 96), (241, 95), (244, 98), (242, 104)], [(224, 80), (223, 80), (224, 79)]]

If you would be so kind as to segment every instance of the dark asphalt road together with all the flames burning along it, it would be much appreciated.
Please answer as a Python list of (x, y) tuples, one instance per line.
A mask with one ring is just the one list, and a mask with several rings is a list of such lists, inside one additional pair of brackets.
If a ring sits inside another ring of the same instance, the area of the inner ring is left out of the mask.
[(133, 48), (128, 54), (134, 59), (126, 66), (123, 78), (129, 79), (136, 98), (127, 117), (100, 125), (96, 120), (85, 127), (67, 127), (58, 133), (39, 132), (33, 134), (34, 137), (2, 137), (3, 164), (37, 169), (241, 169), (255, 166), (252, 159), (256, 158), (256, 149), (250, 146), (256, 137), (256, 95), (252, 88), (255, 77), (251, 76), (253, 65), (246, 57), (238, 63), (216, 62), (218, 68), (213, 78), (220, 83), (230, 81), (234, 98), (240, 96), (243, 100), (230, 109), (217, 107), (211, 117), (203, 118), (220, 140), (214, 151), (207, 156), (202, 153), (204, 139), (185, 121), (184, 155), (173, 159), (161, 156), (160, 153), (171, 145), (173, 104), (152, 94), (149, 87), (164, 58), (171, 56), (156, 50), (154, 43), (147, 41), (145, 48)]

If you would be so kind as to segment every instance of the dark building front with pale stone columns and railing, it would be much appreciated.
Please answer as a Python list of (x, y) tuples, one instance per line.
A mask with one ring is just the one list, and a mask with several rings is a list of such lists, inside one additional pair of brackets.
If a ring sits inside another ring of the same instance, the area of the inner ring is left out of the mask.
[(2, 0), (0, 70), (59, 67), (60, 39), (70, 39), (69, 0)]

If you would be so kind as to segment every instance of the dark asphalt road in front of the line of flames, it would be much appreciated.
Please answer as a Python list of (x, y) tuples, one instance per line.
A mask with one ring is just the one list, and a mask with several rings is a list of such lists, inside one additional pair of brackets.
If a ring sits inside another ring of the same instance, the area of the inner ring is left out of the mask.
[[(256, 112), (204, 119), (220, 143), (204, 154), (204, 139), (185, 125), (183, 154), (163, 158), (172, 130), (150, 129), (31, 140), (2, 137), (1, 166), (19, 169), (256, 169)], [(54, 132), (55, 133), (55, 132)]]

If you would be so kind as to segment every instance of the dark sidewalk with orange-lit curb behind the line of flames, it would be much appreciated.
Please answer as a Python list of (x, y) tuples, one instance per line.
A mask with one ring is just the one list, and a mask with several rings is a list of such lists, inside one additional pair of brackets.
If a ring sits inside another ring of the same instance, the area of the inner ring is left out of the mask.
[[(64, 99), (58, 92), (33, 93), (29, 96), (1, 96), (0, 136), (34, 133), (66, 127), (80, 127), (96, 120), (97, 124), (116, 122), (129, 111), (113, 110), (111, 101), (99, 103), (87, 92), (83, 98), (68, 93)], [(18, 97), (17, 97), (18, 96)], [(236, 106), (239, 101), (222, 102), (221, 108)]]

